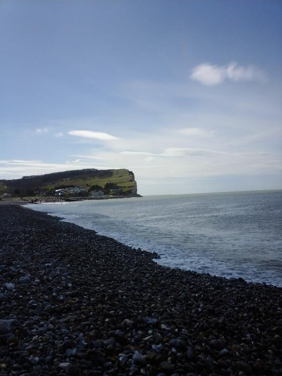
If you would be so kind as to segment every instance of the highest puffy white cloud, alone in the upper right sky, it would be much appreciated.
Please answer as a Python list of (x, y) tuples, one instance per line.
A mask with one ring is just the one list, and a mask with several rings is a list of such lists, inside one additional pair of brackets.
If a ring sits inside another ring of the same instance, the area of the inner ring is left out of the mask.
[(220, 84), (227, 79), (233, 82), (266, 81), (265, 74), (257, 67), (252, 65), (241, 67), (236, 62), (231, 62), (227, 66), (199, 64), (192, 69), (190, 78), (207, 86)]

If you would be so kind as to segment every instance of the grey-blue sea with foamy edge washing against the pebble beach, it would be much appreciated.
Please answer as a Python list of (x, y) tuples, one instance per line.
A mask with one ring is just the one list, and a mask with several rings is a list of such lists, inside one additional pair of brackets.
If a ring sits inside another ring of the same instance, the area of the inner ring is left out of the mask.
[(29, 205), (157, 252), (158, 263), (282, 287), (282, 191)]

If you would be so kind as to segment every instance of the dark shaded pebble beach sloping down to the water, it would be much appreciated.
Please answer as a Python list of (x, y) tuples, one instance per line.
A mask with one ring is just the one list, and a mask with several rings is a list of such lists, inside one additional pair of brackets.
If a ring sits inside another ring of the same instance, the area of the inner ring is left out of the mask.
[(154, 257), (0, 205), (0, 375), (282, 375), (281, 288)]

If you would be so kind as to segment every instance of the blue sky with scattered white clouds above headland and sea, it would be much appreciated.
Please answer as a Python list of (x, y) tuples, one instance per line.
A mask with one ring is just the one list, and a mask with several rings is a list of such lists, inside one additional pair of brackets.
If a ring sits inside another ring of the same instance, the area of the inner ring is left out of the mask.
[(282, 188), (282, 1), (0, 0), (0, 179)]

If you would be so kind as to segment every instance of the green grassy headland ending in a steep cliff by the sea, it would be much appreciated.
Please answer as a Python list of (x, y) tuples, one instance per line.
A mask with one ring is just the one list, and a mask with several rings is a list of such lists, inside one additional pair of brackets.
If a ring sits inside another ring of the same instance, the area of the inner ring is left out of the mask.
[(0, 195), (4, 193), (32, 195), (40, 192), (52, 192), (64, 187), (87, 187), (107, 191), (108, 187), (120, 188), (119, 195), (136, 196), (137, 185), (132, 171), (125, 168), (112, 170), (97, 170), (87, 168), (82, 170), (54, 172), (45, 175), (24, 176), (21, 179), (0, 180)]

